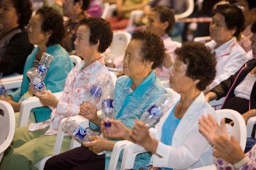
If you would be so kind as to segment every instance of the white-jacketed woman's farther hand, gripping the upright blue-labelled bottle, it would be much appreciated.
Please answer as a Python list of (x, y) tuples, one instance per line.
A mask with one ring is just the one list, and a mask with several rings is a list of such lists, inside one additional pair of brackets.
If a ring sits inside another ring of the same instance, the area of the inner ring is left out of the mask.
[(100, 130), (103, 132), (104, 136), (109, 138), (129, 138), (131, 129), (126, 127), (120, 120), (109, 119), (108, 122), (111, 123), (111, 127), (105, 127), (105, 122), (106, 121), (102, 120), (100, 123)]

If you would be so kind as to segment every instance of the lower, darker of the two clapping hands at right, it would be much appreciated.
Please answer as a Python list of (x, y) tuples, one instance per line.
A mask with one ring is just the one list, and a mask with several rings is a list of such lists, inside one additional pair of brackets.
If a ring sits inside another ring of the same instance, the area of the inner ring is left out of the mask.
[(214, 138), (213, 145), (213, 155), (231, 164), (236, 164), (245, 157), (240, 143), (237, 142), (234, 136), (228, 139), (227, 136), (218, 135)]

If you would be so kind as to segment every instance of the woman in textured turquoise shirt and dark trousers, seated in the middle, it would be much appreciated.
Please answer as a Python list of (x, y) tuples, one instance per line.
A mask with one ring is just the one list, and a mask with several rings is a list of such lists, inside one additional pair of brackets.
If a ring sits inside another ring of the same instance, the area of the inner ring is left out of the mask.
[[(149, 31), (136, 31), (132, 34), (124, 57), (125, 76), (120, 76), (116, 80), (114, 92), (115, 118), (122, 121), (129, 128), (132, 128), (135, 119), (140, 119), (141, 114), (166, 93), (153, 71), (153, 69), (161, 65), (163, 57), (164, 45), (158, 36)], [(92, 129), (99, 129), (101, 118), (97, 116), (95, 106), (81, 106), (81, 115), (90, 120)], [(97, 155), (97, 153), (102, 151), (112, 152), (115, 140), (93, 136), (92, 142), (83, 143), (81, 147), (74, 148), (47, 160), (44, 168), (108, 168), (109, 154)], [(134, 165), (135, 169), (147, 164), (149, 160), (150, 155), (148, 153), (138, 155), (136, 158), (137, 164)], [(118, 168), (120, 168), (120, 163), (121, 160), (118, 161)]]

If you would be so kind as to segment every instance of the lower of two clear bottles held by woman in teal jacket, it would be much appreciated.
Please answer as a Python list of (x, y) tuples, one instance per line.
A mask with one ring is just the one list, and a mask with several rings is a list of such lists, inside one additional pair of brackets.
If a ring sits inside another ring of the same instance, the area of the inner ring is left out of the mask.
[(27, 76), (31, 81), (36, 93), (44, 94), (46, 87), (38, 70), (36, 68), (29, 69), (27, 71)]

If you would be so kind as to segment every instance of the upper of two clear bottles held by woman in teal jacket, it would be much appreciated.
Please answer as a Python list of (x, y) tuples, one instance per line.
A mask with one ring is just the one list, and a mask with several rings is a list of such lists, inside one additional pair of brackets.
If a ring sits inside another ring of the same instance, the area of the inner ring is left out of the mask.
[(41, 76), (41, 79), (44, 80), (47, 71), (49, 69), (49, 66), (52, 62), (53, 56), (49, 53), (43, 53), (41, 60), (40, 60), (40, 64), (37, 67), (37, 70)]

